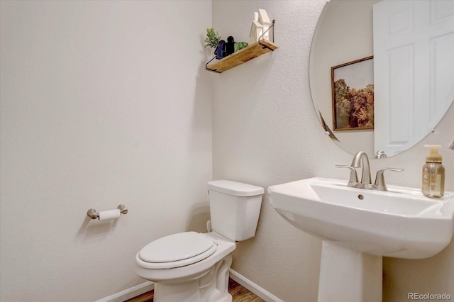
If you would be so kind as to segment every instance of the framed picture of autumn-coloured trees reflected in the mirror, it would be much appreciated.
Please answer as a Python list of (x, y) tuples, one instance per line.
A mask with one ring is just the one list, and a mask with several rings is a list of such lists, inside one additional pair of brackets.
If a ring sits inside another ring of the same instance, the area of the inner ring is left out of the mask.
[(331, 67), (333, 130), (374, 128), (373, 58)]

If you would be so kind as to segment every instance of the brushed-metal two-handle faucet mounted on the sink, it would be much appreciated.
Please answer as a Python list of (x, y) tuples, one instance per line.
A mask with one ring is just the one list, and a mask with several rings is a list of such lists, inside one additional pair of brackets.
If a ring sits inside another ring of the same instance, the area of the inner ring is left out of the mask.
[[(348, 186), (352, 186), (358, 189), (367, 190), (379, 190), (387, 191), (387, 186), (384, 183), (384, 171), (404, 171), (404, 169), (384, 168), (377, 171), (375, 177), (375, 184), (372, 184), (370, 179), (370, 164), (369, 157), (366, 152), (360, 151), (353, 157), (352, 164), (350, 166), (336, 165), (337, 168), (348, 168), (350, 169), (350, 179), (348, 180)], [(356, 168), (362, 167), (361, 181), (358, 181), (358, 174), (356, 174)]]

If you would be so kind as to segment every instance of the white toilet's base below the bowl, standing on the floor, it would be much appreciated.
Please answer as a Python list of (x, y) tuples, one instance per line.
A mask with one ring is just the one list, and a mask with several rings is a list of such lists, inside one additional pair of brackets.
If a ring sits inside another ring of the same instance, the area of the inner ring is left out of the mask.
[(155, 282), (155, 302), (231, 302), (228, 293), (228, 269), (232, 255), (217, 262), (205, 274), (184, 281)]

